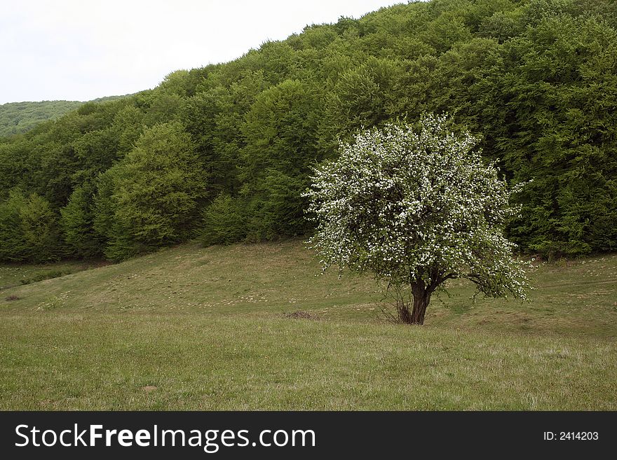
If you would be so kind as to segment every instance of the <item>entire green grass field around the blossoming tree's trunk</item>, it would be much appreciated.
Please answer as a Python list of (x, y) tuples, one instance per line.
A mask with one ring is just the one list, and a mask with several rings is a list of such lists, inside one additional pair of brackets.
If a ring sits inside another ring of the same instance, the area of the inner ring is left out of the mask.
[(3, 266), (0, 410), (617, 410), (617, 256), (529, 274), (419, 327), (299, 241)]

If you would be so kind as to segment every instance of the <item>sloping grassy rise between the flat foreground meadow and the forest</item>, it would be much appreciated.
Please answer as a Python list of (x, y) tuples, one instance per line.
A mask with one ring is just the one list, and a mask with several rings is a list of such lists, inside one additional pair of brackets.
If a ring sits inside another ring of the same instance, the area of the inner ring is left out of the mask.
[[(49, 270), (57, 272), (55, 266), (48, 265)], [(11, 286), (1, 291), (3, 298), (19, 298), (2, 302), (4, 310), (266, 316), (305, 310), (322, 319), (383, 319), (381, 286), (367, 276), (339, 279), (332, 269), (321, 274), (299, 240), (208, 248), (184, 244), (92, 270), (60, 264), (74, 273), (18, 284), (15, 272), (26, 273), (28, 267), (1, 268), (0, 286)], [(529, 303), (473, 300), (473, 284), (449, 280), (449, 294), (431, 302), (426, 322), (484, 332), (617, 339), (617, 255), (540, 263), (529, 275), (535, 286)]]

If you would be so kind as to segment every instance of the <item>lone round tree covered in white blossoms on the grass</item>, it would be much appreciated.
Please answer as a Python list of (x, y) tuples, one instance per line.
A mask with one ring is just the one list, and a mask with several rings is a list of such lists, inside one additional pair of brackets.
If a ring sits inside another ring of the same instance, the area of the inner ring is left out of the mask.
[(386, 279), (405, 323), (423, 323), (447, 279), (526, 298), (523, 264), (503, 236), (513, 190), (475, 144), (434, 115), (417, 129), (387, 125), (341, 144), (337, 160), (316, 167), (305, 194), (318, 223), (309, 244), (324, 270), (338, 265)]

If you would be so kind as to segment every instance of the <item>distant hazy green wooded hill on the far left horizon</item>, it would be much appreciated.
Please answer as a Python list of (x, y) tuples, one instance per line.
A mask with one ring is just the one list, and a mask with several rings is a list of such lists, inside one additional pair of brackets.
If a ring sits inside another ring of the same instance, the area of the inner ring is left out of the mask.
[[(105, 102), (123, 96), (107, 96), (92, 102)], [(79, 101), (8, 102), (0, 105), (0, 136), (21, 134), (39, 123), (55, 120), (84, 104)]]

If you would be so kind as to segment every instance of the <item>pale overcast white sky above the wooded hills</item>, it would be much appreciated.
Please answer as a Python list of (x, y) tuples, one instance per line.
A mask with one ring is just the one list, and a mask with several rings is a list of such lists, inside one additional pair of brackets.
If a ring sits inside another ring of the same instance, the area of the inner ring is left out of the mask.
[(0, 0), (0, 104), (154, 88), (305, 25), (405, 0)]

